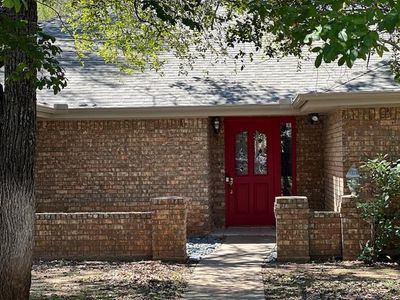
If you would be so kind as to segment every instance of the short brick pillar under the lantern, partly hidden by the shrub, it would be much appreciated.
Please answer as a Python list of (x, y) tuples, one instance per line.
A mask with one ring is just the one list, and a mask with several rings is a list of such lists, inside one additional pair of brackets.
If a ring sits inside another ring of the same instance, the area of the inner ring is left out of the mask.
[(361, 219), (360, 210), (356, 207), (356, 203), (356, 196), (342, 196), (340, 214), (343, 260), (357, 259), (362, 247), (371, 238), (371, 227)]

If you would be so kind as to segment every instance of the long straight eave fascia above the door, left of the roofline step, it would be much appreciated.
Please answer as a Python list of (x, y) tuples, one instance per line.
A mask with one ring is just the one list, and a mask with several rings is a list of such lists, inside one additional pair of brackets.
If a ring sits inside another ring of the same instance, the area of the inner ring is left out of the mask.
[[(48, 113), (50, 109), (51, 113)], [(38, 110), (39, 111), (39, 110)], [(47, 108), (38, 117), (53, 120), (128, 120), (159, 118), (195, 118), (210, 116), (285, 116), (298, 115), (291, 104), (220, 105), (214, 107), (144, 107), (144, 108)]]

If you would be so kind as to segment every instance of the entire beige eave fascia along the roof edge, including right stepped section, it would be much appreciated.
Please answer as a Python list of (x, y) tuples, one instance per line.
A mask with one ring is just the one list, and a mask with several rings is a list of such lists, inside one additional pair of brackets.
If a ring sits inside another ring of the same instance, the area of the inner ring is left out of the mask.
[(40, 119), (129, 120), (210, 116), (296, 116), (339, 108), (400, 106), (400, 91), (299, 94), (288, 104), (54, 109), (38, 105)]

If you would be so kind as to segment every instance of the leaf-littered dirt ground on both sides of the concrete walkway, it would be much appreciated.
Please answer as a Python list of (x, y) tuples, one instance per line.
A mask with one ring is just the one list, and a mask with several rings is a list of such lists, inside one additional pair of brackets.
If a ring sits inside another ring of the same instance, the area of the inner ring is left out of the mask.
[[(31, 299), (180, 299), (191, 268), (159, 261), (36, 262)], [(361, 262), (267, 263), (266, 299), (400, 300), (400, 267)]]

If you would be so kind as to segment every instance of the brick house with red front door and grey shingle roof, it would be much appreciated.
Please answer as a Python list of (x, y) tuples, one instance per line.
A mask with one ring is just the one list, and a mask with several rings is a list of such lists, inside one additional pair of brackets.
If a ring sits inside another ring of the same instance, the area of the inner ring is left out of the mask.
[(273, 225), (276, 196), (335, 211), (353, 164), (398, 157), (400, 88), (376, 57), (351, 70), (198, 63), (188, 76), (171, 58), (163, 77), (127, 76), (95, 57), (81, 67), (54, 33), (69, 85), (38, 94), (38, 212), (146, 211), (175, 195), (190, 199), (189, 233)]

